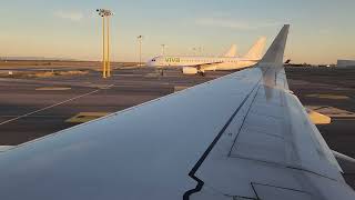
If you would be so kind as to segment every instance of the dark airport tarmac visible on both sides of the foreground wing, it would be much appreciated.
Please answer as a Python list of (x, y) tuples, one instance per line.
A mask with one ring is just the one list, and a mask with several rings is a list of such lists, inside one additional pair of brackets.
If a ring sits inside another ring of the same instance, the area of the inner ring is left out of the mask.
[[(115, 70), (36, 79), (0, 79), (0, 146), (20, 144), (92, 119), (116, 112), (230, 72), (206, 77), (178, 70), (158, 76), (153, 69)], [(332, 117), (318, 126), (332, 149), (355, 157), (355, 69), (287, 69), (290, 88), (305, 106)], [(341, 79), (339, 79), (341, 77)], [(237, 87), (237, 86), (235, 86)], [(355, 176), (345, 176), (355, 187)]]

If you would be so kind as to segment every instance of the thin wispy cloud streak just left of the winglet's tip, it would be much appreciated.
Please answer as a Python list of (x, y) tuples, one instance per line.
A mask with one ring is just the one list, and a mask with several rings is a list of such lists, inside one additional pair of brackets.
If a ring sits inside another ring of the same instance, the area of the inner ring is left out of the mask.
[(234, 20), (227, 18), (199, 18), (195, 20), (195, 23), (199, 26), (205, 27), (220, 27), (220, 28), (230, 28), (237, 30), (255, 30), (266, 27), (276, 27), (280, 26), (280, 22), (247, 22), (242, 20)]

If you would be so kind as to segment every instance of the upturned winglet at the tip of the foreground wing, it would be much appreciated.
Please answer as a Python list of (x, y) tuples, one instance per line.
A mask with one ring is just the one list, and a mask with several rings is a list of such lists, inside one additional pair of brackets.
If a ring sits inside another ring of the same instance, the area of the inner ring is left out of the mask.
[(274, 42), (270, 46), (267, 52), (265, 53), (264, 58), (261, 62), (265, 63), (283, 63), (285, 47), (287, 42), (290, 24), (285, 24), (277, 37), (275, 38)]

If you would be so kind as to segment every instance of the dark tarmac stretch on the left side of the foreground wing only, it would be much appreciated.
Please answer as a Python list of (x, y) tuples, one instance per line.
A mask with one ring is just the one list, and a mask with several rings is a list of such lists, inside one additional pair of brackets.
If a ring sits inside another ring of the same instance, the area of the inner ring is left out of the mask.
[[(99, 72), (37, 79), (0, 79), (0, 146), (16, 146), (78, 123), (81, 112), (116, 112), (211, 80), (220, 74), (181, 77), (169, 71), (119, 70), (110, 79)], [(221, 74), (222, 76), (222, 74)]]

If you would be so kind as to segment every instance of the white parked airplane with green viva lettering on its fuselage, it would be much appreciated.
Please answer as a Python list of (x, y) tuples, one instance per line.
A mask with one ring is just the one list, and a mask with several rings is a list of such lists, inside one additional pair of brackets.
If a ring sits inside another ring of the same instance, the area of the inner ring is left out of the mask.
[(204, 74), (206, 71), (235, 70), (254, 66), (262, 58), (266, 38), (260, 38), (243, 57), (236, 58), (236, 47), (233, 46), (223, 57), (171, 57), (160, 56), (146, 64), (155, 68), (182, 68), (184, 74)]

